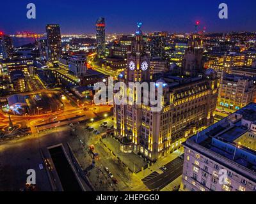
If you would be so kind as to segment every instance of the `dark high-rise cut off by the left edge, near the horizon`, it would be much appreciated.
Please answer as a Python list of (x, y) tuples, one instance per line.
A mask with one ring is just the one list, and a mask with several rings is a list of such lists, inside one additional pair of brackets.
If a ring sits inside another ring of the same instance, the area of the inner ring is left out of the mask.
[(1, 43), (1, 48), (3, 52), (3, 58), (11, 59), (13, 57), (13, 52), (14, 52), (12, 38), (10, 36), (0, 34), (0, 43)]

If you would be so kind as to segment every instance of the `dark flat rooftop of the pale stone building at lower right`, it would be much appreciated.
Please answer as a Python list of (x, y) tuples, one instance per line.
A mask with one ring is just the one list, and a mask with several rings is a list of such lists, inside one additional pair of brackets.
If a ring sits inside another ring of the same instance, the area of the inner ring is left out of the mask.
[[(196, 143), (212, 153), (219, 154), (256, 172), (256, 149), (248, 148), (246, 142), (243, 143), (245, 140), (240, 140), (244, 136), (248, 136), (248, 133), (256, 134), (255, 124), (256, 103), (250, 103), (220, 122), (192, 136), (188, 139), (188, 142)], [(255, 138), (252, 138), (252, 140), (255, 140)], [(200, 146), (197, 146), (198, 149), (200, 149)]]

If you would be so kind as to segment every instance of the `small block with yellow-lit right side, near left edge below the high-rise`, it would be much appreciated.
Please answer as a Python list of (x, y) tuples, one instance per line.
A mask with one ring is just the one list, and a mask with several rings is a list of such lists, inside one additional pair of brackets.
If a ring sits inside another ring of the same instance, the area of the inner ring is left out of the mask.
[(25, 76), (20, 70), (12, 71), (10, 73), (10, 82), (13, 84), (13, 91), (24, 92), (26, 91)]

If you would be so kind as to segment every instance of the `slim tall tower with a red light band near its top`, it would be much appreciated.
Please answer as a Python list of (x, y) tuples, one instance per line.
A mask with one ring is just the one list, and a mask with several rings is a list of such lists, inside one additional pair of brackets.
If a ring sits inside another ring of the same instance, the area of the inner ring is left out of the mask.
[(99, 58), (105, 57), (105, 18), (100, 17), (96, 22), (97, 54)]

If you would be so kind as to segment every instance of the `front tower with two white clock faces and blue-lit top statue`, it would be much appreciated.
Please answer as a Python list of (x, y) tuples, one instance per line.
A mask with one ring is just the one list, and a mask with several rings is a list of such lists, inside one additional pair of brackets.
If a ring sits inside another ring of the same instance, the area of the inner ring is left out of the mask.
[(132, 52), (127, 54), (127, 69), (125, 78), (128, 82), (148, 82), (152, 79), (150, 75), (150, 56), (145, 52), (141, 22), (137, 23), (136, 42)]

